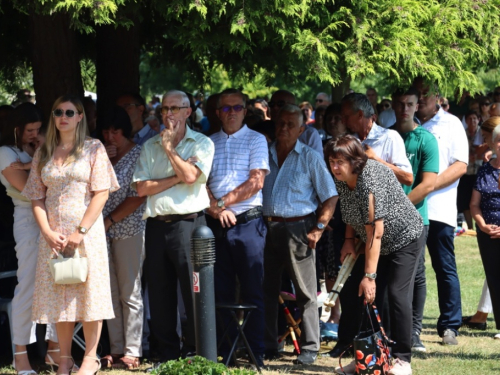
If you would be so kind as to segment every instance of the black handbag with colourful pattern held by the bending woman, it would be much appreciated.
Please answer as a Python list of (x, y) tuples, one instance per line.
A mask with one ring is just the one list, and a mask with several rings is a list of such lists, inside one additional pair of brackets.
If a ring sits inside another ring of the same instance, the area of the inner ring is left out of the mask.
[[(373, 311), (377, 319), (377, 329), (375, 328), (372, 311), (370, 310)], [(392, 344), (394, 344), (394, 341), (390, 340), (385, 334), (377, 307), (372, 304), (367, 304), (365, 301), (365, 309), (363, 311), (359, 332), (353, 340), (356, 374), (388, 374), (392, 367), (392, 358), (389, 349), (389, 346)], [(339, 362), (340, 360), (341, 358), (339, 358)]]

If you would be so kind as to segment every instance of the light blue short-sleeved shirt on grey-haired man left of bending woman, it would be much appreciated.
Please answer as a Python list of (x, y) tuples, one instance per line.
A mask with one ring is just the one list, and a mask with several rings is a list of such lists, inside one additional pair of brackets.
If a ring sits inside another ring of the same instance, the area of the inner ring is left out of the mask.
[(300, 141), (281, 168), (276, 142), (273, 143), (269, 149), (269, 166), (271, 172), (262, 189), (264, 216), (305, 216), (316, 211), (320, 202), (338, 195), (323, 158)]

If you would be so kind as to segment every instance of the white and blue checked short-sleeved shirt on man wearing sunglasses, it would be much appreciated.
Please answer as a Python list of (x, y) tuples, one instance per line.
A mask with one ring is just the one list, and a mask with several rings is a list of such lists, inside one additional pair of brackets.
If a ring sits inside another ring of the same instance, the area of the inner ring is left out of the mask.
[[(252, 169), (264, 169), (269, 173), (269, 153), (266, 138), (246, 125), (236, 133), (227, 135), (223, 129), (212, 134), (215, 154), (208, 187), (216, 199), (233, 191), (250, 177)], [(262, 205), (262, 191), (254, 196), (227, 207), (239, 215)]]

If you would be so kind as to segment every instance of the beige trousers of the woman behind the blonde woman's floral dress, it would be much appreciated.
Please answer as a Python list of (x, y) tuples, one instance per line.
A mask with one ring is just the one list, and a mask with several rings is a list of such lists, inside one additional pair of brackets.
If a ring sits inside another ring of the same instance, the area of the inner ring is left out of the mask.
[(111, 240), (109, 274), (115, 318), (108, 320), (107, 325), (112, 354), (142, 356), (144, 258), (144, 231), (123, 240)]

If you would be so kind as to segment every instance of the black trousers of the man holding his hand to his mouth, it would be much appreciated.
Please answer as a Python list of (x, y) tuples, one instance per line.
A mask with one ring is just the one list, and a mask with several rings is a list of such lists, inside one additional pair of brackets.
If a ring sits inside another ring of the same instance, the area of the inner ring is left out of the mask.
[(163, 222), (149, 218), (146, 223), (146, 275), (151, 332), (158, 341), (160, 361), (178, 359), (181, 340), (177, 334), (177, 282), (187, 314), (184, 345), (195, 346), (193, 310), (193, 267), (191, 232), (205, 224), (205, 217)]

